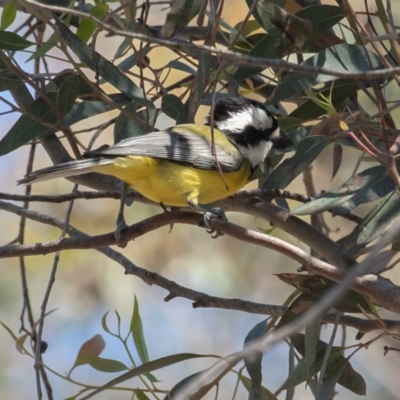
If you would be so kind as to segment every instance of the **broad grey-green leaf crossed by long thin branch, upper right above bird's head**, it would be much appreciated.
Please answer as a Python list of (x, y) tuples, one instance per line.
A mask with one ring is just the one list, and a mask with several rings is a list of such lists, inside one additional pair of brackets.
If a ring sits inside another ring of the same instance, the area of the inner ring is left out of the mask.
[[(347, 43), (324, 49), (300, 65), (351, 72), (365, 72), (383, 67), (381, 60), (375, 53), (362, 46)], [(302, 93), (319, 83), (334, 79), (336, 78), (326, 74), (289, 73), (283, 77), (268, 102), (270, 104), (277, 103), (295, 94)]]

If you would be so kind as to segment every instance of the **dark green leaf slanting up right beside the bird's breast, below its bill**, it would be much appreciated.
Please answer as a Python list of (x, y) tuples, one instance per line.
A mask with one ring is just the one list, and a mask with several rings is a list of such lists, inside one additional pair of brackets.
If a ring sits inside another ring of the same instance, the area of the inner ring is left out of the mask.
[(297, 145), (296, 153), (279, 164), (265, 182), (263, 189), (283, 189), (310, 165), (330, 143), (328, 136), (308, 136)]

